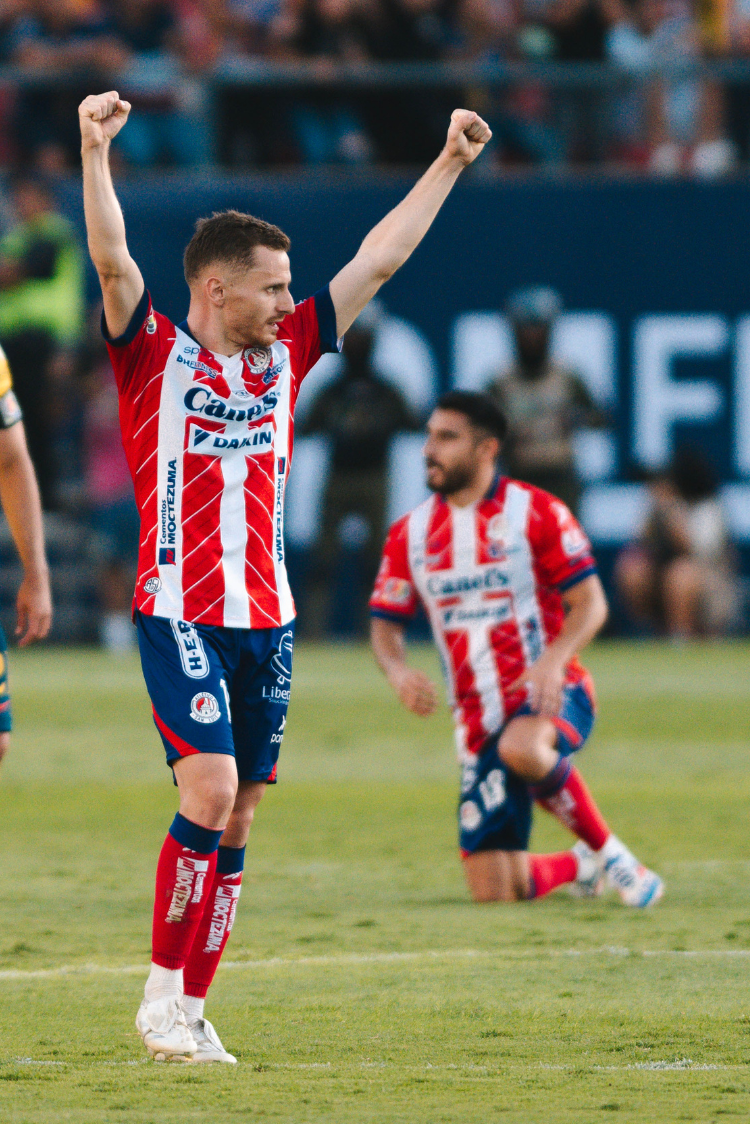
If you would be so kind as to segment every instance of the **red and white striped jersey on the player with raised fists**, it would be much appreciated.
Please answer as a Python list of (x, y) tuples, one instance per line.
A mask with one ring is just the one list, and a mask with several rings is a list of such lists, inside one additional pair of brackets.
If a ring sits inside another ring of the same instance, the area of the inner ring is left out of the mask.
[(144, 292), (108, 347), (141, 513), (136, 607), (231, 628), (287, 624), (283, 493), (301, 381), (337, 348), (327, 288), (282, 320), (271, 347), (232, 357)]

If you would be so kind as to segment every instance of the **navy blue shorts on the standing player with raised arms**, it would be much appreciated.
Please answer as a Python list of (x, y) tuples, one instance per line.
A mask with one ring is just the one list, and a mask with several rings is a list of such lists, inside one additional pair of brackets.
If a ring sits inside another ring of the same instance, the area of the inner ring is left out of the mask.
[(228, 753), (240, 780), (275, 783), (295, 624), (219, 628), (136, 611), (141, 664), (166, 763)]

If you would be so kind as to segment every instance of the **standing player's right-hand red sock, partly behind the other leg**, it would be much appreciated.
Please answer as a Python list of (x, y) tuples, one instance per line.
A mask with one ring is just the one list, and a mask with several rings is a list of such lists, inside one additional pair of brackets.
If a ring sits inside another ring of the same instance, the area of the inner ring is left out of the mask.
[(214, 882), (184, 966), (184, 994), (204, 999), (229, 940), (237, 910), (245, 849), (220, 846)]

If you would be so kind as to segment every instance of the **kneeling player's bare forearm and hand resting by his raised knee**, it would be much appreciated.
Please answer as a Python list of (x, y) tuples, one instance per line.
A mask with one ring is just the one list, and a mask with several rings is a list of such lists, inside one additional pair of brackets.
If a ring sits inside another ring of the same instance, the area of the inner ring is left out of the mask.
[(594, 640), (607, 619), (607, 600), (596, 574), (572, 586), (562, 600), (566, 619), (560, 634), (512, 688), (525, 689), (532, 709), (549, 718), (560, 713), (568, 663)]

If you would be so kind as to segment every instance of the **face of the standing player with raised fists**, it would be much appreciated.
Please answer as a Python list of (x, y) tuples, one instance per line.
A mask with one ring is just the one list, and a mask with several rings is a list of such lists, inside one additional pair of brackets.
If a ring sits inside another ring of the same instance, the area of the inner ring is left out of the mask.
[(209, 288), (214, 284), (225, 335), (237, 351), (270, 347), (275, 343), (279, 324), (295, 310), (289, 292), (289, 255), (283, 250), (256, 246), (250, 270), (222, 269), (207, 282)]

